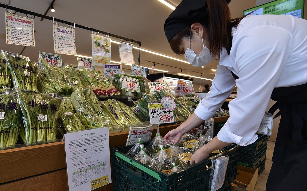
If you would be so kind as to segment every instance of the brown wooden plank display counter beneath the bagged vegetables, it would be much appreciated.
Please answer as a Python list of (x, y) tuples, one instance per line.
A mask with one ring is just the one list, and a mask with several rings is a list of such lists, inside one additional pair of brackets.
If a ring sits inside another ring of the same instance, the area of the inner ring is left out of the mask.
[[(229, 116), (216, 117), (214, 122), (226, 121)], [(179, 124), (161, 126), (164, 136)], [(125, 146), (129, 132), (109, 135), (110, 152), (113, 147)], [(151, 139), (156, 135), (153, 129)], [(3, 191), (65, 191), (68, 190), (64, 141), (0, 151), (0, 190)], [(112, 166), (111, 166), (112, 168)], [(97, 191), (111, 191), (109, 184)]]

